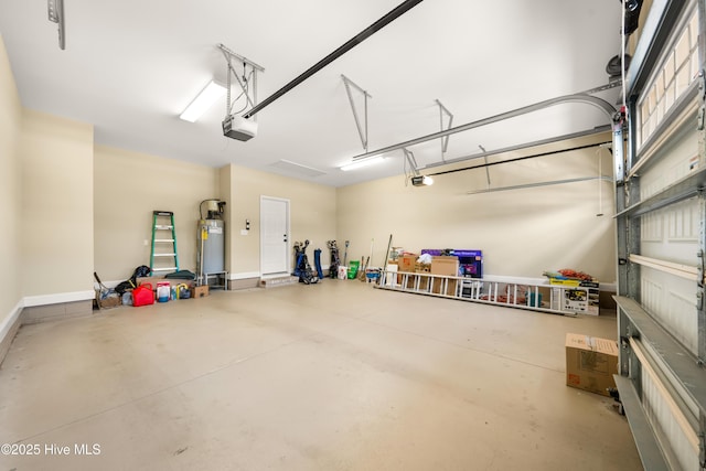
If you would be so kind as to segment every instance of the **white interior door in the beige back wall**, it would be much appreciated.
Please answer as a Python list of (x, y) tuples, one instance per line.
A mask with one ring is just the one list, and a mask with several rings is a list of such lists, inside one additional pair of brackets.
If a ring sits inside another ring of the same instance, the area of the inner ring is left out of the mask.
[(260, 196), (260, 272), (289, 272), (289, 200)]

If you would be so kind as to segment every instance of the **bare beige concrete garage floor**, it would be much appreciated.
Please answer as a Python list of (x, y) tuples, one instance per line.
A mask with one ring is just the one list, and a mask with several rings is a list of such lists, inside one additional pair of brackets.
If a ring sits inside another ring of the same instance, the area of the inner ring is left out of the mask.
[(25, 325), (0, 443), (39, 456), (0, 470), (642, 469), (567, 332), (616, 320), (324, 280)]

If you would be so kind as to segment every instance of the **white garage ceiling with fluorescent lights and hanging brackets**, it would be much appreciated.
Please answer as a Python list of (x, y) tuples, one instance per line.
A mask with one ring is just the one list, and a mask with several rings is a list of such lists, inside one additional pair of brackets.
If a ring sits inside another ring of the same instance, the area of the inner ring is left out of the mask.
[[(225, 99), (195, 124), (178, 118), (211, 78), (225, 78), (218, 43), (265, 67), (261, 101), (402, 0), (64, 2), (61, 51), (46, 1), (0, 0), (25, 107), (95, 125), (96, 143), (335, 186), (403, 173), (402, 151), (339, 170), (363, 153), (341, 74), (372, 95), (375, 150), (440, 130), (436, 99), (457, 126), (607, 84), (620, 47), (616, 0), (426, 0), (263, 109), (257, 137), (240, 142), (222, 135)], [(614, 103), (618, 90), (598, 96)], [(453, 135), (446, 159), (607, 124), (597, 109), (560, 105)], [(410, 150), (420, 165), (441, 160), (439, 140)], [(325, 173), (272, 167), (282, 159)]]

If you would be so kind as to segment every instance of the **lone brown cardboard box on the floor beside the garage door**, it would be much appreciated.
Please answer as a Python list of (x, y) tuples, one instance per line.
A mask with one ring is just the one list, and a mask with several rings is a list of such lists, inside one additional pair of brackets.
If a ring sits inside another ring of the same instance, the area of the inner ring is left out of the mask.
[(618, 342), (577, 333), (566, 334), (566, 385), (609, 396), (616, 387)]

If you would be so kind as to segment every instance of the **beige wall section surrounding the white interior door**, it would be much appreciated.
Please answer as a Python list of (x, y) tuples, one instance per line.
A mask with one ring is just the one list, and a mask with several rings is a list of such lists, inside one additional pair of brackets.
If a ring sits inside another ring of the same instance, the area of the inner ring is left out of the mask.
[[(260, 270), (260, 196), (271, 196), (290, 202), (290, 238), (309, 239), (307, 255), (313, 266), (313, 250), (321, 248), (321, 264), (329, 264), (327, 240), (335, 237), (336, 197), (335, 189), (229, 165), (232, 253), (229, 257), (233, 276), (259, 274)], [(250, 221), (250, 231), (240, 235), (245, 221)], [(293, 264), (293, 263), (292, 263)], [(291, 265), (291, 264), (290, 264)], [(291, 267), (293, 269), (293, 266)]]

